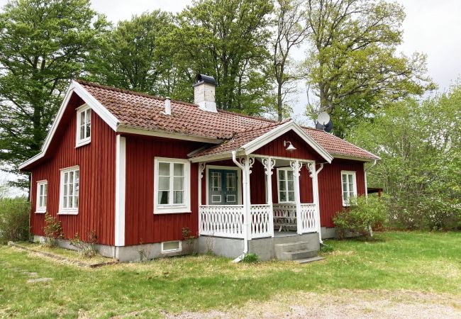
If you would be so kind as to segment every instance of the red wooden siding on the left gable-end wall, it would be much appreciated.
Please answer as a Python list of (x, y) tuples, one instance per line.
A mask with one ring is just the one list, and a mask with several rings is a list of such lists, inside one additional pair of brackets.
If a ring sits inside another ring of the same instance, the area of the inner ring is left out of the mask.
[[(64, 237), (69, 239), (79, 233), (83, 240), (91, 230), (97, 241), (104, 245), (114, 244), (115, 217), (115, 162), (116, 133), (91, 112), (91, 142), (75, 148), (77, 113), (75, 108), (84, 102), (72, 96), (65, 115), (50, 145), (50, 155), (31, 169), (30, 227), (34, 235), (45, 235), (45, 214), (35, 213), (37, 181), (48, 181), (47, 211), (57, 216), (62, 224)], [(79, 165), (79, 213), (57, 215), (59, 209), (60, 169)]]

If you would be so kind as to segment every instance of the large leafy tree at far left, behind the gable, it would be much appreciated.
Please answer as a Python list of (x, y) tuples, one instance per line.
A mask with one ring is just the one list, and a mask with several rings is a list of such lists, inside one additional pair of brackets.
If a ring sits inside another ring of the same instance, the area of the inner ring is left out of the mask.
[[(89, 0), (13, 0), (0, 14), (0, 161), (40, 152), (70, 79), (107, 24)], [(24, 178), (17, 186), (27, 189)]]

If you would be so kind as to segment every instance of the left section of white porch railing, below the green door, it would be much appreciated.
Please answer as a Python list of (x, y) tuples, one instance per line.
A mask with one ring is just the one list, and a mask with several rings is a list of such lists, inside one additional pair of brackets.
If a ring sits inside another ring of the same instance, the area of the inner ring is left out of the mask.
[(243, 238), (243, 205), (199, 206), (200, 235)]

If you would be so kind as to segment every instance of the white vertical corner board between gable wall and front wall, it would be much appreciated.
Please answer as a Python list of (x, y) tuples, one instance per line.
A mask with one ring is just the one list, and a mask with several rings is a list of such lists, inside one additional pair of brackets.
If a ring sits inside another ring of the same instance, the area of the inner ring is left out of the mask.
[(115, 245), (125, 246), (126, 138), (116, 138)]

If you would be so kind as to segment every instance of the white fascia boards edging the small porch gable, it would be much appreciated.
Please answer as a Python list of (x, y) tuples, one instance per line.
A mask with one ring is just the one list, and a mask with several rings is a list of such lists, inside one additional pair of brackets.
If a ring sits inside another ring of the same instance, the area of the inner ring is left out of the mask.
[(241, 148), (245, 150), (245, 155), (250, 155), (260, 147), (266, 145), (269, 142), (272, 142), (272, 140), (275, 140), (276, 138), (279, 138), (279, 136), (284, 135), (284, 133), (287, 133), (289, 130), (294, 130), (294, 132), (298, 134), (308, 145), (310, 145), (313, 150), (321, 155), (323, 159), (325, 159), (328, 163), (331, 163), (333, 157), (330, 155), (330, 153), (321, 147), (315, 140), (313, 140), (313, 138), (311, 138), (309, 134), (304, 132), (304, 130), (293, 121), (289, 121), (278, 126), (277, 128), (274, 128), (273, 130), (270, 130), (264, 135), (261, 135), (259, 138), (255, 138), (255, 140), (252, 140), (251, 142), (243, 145)]

